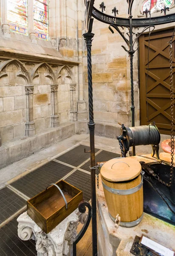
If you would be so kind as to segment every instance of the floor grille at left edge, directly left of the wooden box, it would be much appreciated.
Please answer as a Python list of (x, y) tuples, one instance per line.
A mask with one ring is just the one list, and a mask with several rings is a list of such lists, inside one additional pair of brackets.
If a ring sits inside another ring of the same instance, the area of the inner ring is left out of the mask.
[(7, 187), (0, 189), (0, 224), (24, 207), (26, 201)]

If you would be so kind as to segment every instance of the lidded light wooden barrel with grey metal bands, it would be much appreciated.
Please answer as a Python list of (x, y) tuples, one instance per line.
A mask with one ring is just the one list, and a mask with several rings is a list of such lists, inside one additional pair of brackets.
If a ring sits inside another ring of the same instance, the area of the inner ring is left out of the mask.
[(100, 171), (110, 218), (119, 213), (120, 225), (133, 227), (143, 218), (141, 164), (130, 157), (112, 159)]

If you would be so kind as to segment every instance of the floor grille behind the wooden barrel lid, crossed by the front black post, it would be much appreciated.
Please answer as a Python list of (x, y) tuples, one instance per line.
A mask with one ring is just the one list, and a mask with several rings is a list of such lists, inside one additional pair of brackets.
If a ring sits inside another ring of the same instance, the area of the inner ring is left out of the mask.
[[(99, 154), (96, 155), (95, 160), (96, 160), (96, 163), (97, 163), (97, 162), (109, 161), (110, 159), (113, 159), (113, 158), (116, 158), (116, 157), (120, 157), (120, 154), (116, 154), (116, 153), (113, 153), (113, 152), (103, 150)], [(85, 163), (80, 168), (90, 172), (89, 166), (90, 166), (90, 161)]]

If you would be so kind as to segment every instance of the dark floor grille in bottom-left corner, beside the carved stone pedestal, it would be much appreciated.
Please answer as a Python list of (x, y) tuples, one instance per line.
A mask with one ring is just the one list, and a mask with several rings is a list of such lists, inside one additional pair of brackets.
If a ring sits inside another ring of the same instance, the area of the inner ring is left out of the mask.
[(35, 256), (34, 240), (22, 241), (17, 235), (17, 218), (0, 229), (0, 256)]

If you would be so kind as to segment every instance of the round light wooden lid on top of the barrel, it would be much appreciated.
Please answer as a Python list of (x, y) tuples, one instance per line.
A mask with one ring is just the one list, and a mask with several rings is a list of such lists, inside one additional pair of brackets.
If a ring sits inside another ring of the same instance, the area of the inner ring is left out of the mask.
[(141, 164), (131, 157), (114, 158), (104, 163), (100, 173), (113, 182), (132, 180), (141, 173)]

